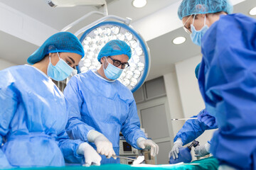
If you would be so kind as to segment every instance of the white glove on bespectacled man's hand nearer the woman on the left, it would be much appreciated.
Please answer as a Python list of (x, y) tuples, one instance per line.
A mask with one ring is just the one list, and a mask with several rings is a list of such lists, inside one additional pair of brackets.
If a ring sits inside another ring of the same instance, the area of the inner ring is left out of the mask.
[[(88, 133), (87, 138), (89, 142), (95, 143), (97, 147), (97, 152), (99, 154), (105, 155), (108, 159), (113, 155), (116, 155), (112, 143), (110, 142), (110, 140), (107, 140), (107, 137), (105, 137), (105, 135), (102, 135), (102, 133), (97, 132), (96, 130), (91, 130)], [(115, 157), (115, 159), (117, 158)]]

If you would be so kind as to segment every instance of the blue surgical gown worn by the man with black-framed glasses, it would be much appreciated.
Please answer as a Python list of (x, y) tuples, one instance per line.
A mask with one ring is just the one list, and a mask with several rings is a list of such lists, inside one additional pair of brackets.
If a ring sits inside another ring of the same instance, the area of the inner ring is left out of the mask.
[[(140, 129), (137, 107), (132, 92), (119, 81), (107, 81), (91, 70), (72, 77), (64, 95), (75, 111), (70, 111), (67, 132), (73, 139), (87, 142), (87, 133), (97, 130), (112, 142), (119, 155), (119, 132), (130, 145), (145, 137)], [(94, 144), (90, 143), (92, 147)], [(101, 164), (119, 163), (102, 156)]]

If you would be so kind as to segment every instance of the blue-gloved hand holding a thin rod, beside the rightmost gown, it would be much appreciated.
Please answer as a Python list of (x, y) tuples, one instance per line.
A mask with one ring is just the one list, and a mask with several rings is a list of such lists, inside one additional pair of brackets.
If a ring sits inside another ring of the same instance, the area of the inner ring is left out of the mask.
[(209, 115), (208, 111), (203, 110), (198, 114), (198, 121), (208, 125), (210, 128), (218, 128), (215, 117)]

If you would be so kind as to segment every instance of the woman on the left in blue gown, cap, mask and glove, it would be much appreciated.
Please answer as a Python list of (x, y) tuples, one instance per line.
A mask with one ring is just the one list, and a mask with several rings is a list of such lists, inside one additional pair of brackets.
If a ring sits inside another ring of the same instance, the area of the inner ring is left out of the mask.
[(75, 35), (56, 33), (28, 57), (32, 65), (0, 72), (1, 169), (100, 164), (100, 155), (89, 144), (69, 139), (69, 108), (51, 80), (67, 78), (83, 56)]

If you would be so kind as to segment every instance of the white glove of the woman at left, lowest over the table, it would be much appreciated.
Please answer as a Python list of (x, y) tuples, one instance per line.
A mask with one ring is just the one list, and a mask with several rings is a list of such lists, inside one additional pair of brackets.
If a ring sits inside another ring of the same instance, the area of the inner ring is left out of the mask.
[(90, 166), (91, 164), (95, 164), (100, 166), (101, 157), (100, 154), (97, 154), (95, 149), (87, 142), (81, 143), (78, 146), (76, 151), (78, 154), (83, 154), (85, 157), (85, 166)]

